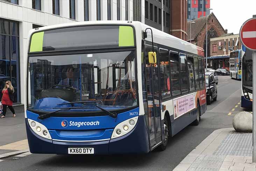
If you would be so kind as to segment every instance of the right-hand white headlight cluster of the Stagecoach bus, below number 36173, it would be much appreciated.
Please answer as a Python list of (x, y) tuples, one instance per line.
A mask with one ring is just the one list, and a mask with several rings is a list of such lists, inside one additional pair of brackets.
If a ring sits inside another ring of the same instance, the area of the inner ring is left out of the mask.
[(129, 133), (136, 126), (137, 121), (138, 121), (138, 116), (133, 117), (132, 119), (127, 119), (119, 123), (114, 129), (111, 139), (118, 138)]

